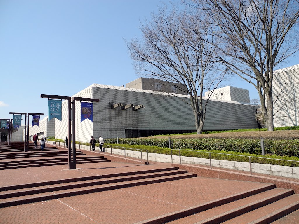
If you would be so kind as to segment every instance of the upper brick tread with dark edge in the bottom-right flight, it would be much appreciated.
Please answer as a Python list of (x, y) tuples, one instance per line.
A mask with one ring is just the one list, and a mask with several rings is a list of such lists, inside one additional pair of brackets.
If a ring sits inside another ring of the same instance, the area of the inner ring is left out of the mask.
[(263, 207), (277, 200), (281, 200), (294, 193), (293, 190), (274, 188), (259, 194), (255, 194), (234, 202), (220, 205), (188, 217), (169, 222), (169, 224), (196, 223), (214, 224), (222, 223), (246, 212)]

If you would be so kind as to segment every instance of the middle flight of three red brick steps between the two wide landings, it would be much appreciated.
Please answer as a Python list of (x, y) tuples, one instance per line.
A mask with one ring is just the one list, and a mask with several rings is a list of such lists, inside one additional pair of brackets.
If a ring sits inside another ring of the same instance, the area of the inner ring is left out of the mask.
[(196, 177), (177, 167), (62, 179), (0, 188), (0, 208)]

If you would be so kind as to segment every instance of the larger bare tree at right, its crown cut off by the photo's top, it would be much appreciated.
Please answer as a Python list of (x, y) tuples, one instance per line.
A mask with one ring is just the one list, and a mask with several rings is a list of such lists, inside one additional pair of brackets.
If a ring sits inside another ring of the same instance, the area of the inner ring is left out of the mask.
[(298, 51), (298, 0), (185, 1), (210, 19), (221, 38), (216, 58), (255, 86), (268, 131), (274, 130), (274, 68)]

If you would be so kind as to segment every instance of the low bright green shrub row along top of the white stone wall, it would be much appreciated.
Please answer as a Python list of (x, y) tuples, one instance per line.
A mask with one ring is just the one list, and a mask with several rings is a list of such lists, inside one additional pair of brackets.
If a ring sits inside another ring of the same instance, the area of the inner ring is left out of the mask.
[[(158, 153), (158, 154), (171, 154), (171, 150), (169, 148), (162, 148), (158, 146), (147, 146), (147, 145), (127, 145), (127, 144), (112, 144), (113, 148), (135, 148), (135, 149), (143, 149), (148, 150), (149, 153)], [(132, 150), (132, 149), (130, 149)], [(132, 150), (132, 151), (138, 151), (138, 150)], [(220, 160), (228, 160), (228, 161), (237, 161), (237, 162), (249, 162), (248, 157), (242, 157), (242, 156), (250, 156), (252, 163), (261, 163), (261, 164), (271, 164), (271, 165), (282, 165), (282, 166), (292, 166), (292, 167), (299, 167), (299, 158), (298, 157), (281, 157), (281, 156), (261, 156), (257, 154), (249, 154), (249, 153), (240, 153), (240, 152), (227, 152), (227, 151), (219, 151), (219, 150), (194, 150), (194, 151), (184, 151), (181, 150), (181, 156), (187, 156), (187, 157), (196, 157), (196, 158), (209, 158), (209, 153), (205, 152), (211, 152), (212, 159), (220, 159)], [(213, 153), (221, 153), (221, 154), (213, 154)], [(226, 155), (222, 155), (226, 154)], [(228, 155), (228, 154), (234, 154), (234, 155)], [(173, 155), (179, 155), (178, 150), (173, 150)], [(242, 155), (242, 156), (238, 156)], [(259, 158), (254, 158), (259, 157)], [(266, 159), (270, 158), (270, 159)], [(283, 161), (283, 160), (274, 160), (274, 159), (286, 159), (286, 160), (295, 160), (298, 162), (290, 162), (290, 161)]]

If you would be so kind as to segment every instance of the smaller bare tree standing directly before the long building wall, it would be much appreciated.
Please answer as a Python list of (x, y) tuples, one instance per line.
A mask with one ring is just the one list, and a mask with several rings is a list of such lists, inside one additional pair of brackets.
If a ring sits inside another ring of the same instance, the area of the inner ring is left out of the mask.
[[(141, 24), (140, 30), (143, 38), (127, 43), (135, 70), (170, 85), (183, 85), (176, 87), (190, 96), (187, 103), (195, 116), (197, 134), (201, 134), (210, 96), (225, 75), (225, 71), (216, 70), (211, 57), (217, 40), (208, 35), (207, 27), (176, 7), (160, 8), (150, 22)], [(203, 97), (205, 90), (209, 94)]]

